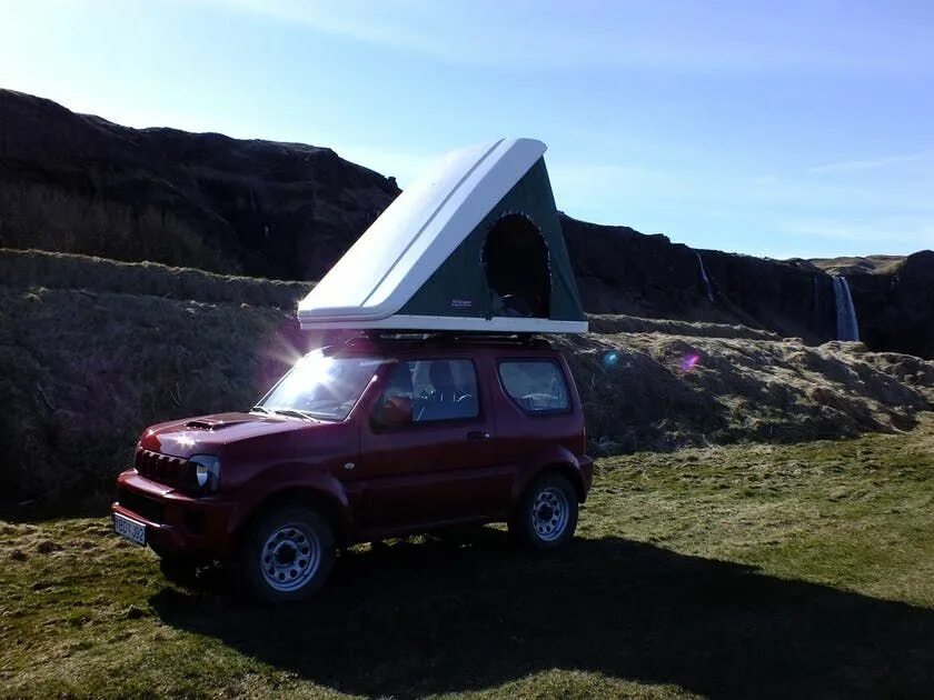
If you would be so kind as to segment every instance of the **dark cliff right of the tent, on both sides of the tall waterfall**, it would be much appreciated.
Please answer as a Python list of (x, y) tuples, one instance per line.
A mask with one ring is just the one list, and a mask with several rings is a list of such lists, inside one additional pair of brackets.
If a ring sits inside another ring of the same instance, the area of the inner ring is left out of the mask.
[(860, 338), (870, 348), (934, 358), (934, 252), (930, 250), (907, 258), (875, 256), (815, 264), (695, 251), (665, 236), (566, 216), (562, 227), (584, 308), (592, 313), (742, 323), (821, 343), (837, 333), (831, 272), (846, 277)]

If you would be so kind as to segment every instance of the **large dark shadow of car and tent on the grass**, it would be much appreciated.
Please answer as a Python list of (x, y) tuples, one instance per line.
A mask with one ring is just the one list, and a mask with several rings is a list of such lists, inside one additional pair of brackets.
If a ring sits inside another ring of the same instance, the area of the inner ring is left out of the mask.
[(913, 696), (934, 688), (934, 612), (622, 539), (555, 556), (479, 529), (341, 558), (316, 602), (151, 599), (208, 634), (336, 690), (409, 697), (553, 668), (713, 697)]

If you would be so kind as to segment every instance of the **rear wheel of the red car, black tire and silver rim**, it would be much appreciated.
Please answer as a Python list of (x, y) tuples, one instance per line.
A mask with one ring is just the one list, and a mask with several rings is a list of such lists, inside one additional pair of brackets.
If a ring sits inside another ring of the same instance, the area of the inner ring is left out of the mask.
[(577, 529), (577, 492), (565, 477), (538, 477), (509, 517), (514, 541), (536, 550), (566, 544)]

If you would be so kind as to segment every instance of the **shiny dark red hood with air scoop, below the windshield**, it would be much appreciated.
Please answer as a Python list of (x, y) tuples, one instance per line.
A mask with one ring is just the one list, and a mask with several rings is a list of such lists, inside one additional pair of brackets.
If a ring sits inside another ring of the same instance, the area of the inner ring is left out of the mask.
[(142, 433), (140, 447), (187, 459), (217, 454), (231, 442), (329, 424), (266, 413), (212, 413), (152, 426)]

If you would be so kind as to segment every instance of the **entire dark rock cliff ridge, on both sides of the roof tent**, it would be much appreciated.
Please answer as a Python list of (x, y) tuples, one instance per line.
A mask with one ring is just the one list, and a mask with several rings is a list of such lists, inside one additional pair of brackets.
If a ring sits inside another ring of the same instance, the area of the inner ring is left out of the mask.
[[(398, 193), (393, 178), (330, 149), (129, 129), (0, 90), (0, 247), (314, 280)], [(562, 226), (592, 313), (742, 323), (818, 343), (836, 337), (829, 271), (847, 276), (872, 349), (934, 357), (930, 251), (815, 264), (695, 251), (565, 216)]]

